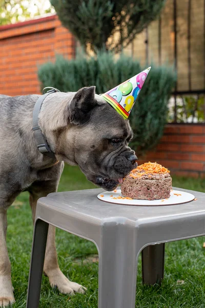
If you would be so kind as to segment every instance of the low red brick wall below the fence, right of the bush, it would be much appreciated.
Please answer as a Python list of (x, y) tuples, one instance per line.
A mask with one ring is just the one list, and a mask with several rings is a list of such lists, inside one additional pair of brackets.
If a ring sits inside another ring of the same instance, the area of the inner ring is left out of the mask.
[(204, 177), (205, 171), (205, 125), (167, 125), (157, 147), (141, 158), (157, 162), (179, 176)]

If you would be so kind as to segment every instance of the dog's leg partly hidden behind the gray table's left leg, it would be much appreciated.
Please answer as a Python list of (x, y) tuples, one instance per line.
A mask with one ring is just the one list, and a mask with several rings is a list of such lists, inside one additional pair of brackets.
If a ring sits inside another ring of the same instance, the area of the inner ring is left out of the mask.
[[(35, 194), (30, 194), (30, 205), (32, 209), (32, 218), (35, 219), (36, 202), (39, 197), (47, 196), (48, 192), (41, 192), (40, 196)], [(73, 294), (85, 293), (85, 287), (82, 285), (70, 281), (61, 271), (58, 266), (57, 253), (55, 247), (55, 227), (49, 225), (48, 239), (46, 245), (46, 255), (44, 261), (44, 273), (48, 276), (50, 284), (52, 287), (57, 287), (61, 293)]]

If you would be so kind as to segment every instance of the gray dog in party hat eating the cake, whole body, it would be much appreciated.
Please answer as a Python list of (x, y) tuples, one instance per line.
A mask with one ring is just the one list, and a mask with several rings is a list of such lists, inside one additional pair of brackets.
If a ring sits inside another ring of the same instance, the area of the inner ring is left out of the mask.
[[(106, 190), (113, 190), (136, 166), (135, 153), (128, 147), (129, 122), (95, 94), (95, 87), (46, 97), (39, 126), (55, 158), (40, 153), (32, 130), (39, 97), (0, 95), (0, 307), (15, 301), (6, 232), (7, 209), (16, 196), (29, 191), (34, 220), (37, 199), (57, 190), (64, 162), (79, 165), (88, 180)], [(84, 293), (83, 286), (69, 281), (59, 269), (53, 226), (49, 227), (44, 273), (61, 293)]]

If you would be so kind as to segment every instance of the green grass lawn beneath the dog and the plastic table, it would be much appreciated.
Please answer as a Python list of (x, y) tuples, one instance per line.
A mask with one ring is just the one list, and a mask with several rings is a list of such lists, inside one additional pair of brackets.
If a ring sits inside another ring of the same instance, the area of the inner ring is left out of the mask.
[[(205, 191), (205, 181), (173, 177), (173, 186)], [(59, 191), (94, 188), (78, 167), (66, 166)], [(15, 308), (25, 307), (32, 243), (32, 221), (28, 194), (21, 194), (8, 210), (8, 251), (12, 263), (12, 282), (15, 289)], [(141, 284), (141, 260), (138, 262), (136, 307), (202, 308), (205, 307), (205, 249), (204, 238), (166, 244), (165, 279), (162, 284)], [(56, 233), (59, 265), (65, 275), (88, 288), (86, 295), (59, 294), (43, 277), (40, 308), (96, 308), (98, 263), (83, 260), (96, 255), (95, 245), (62, 230)], [(183, 284), (177, 284), (183, 280)]]

